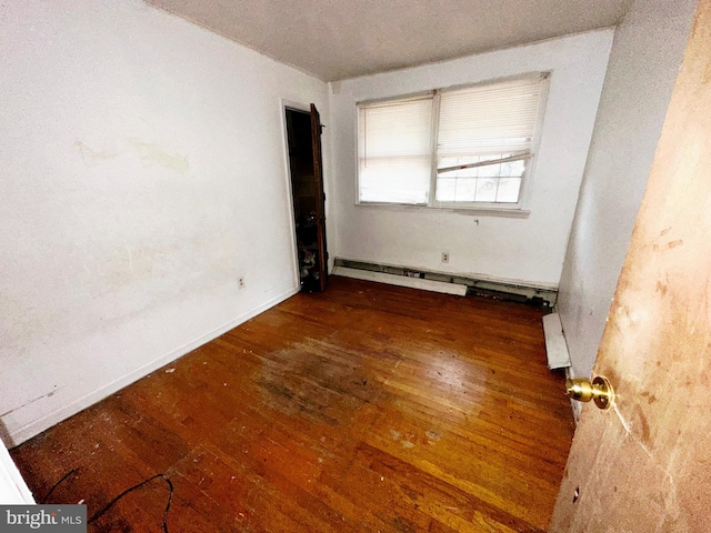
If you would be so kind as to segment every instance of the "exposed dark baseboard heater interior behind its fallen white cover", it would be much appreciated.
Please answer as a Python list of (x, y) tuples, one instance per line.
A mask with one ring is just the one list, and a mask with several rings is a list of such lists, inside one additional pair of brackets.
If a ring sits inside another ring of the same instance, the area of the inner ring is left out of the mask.
[(390, 264), (370, 263), (351, 259), (336, 258), (336, 268), (362, 270), (369, 272), (380, 272), (391, 275), (401, 275), (421, 280), (437, 281), (441, 283), (452, 283), (454, 285), (467, 285), (468, 295), (479, 295), (510, 300), (517, 302), (528, 302), (552, 308), (558, 299), (558, 289), (528, 285), (524, 283), (513, 283), (499, 280), (485, 280), (471, 278), (462, 274), (451, 274), (434, 272), (411, 266), (393, 266)]

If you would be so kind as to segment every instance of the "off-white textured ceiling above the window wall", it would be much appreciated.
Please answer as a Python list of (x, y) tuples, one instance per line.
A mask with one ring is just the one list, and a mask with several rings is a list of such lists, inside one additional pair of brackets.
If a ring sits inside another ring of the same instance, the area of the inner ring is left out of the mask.
[(632, 0), (146, 0), (326, 81), (613, 26)]

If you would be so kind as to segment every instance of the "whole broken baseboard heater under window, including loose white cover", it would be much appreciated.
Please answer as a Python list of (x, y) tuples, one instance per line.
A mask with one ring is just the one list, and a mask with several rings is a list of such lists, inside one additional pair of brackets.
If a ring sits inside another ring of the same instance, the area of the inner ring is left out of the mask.
[(413, 286), (459, 295), (478, 295), (552, 308), (558, 291), (492, 280), (481, 280), (459, 274), (447, 274), (408, 266), (369, 263), (337, 258), (334, 275)]

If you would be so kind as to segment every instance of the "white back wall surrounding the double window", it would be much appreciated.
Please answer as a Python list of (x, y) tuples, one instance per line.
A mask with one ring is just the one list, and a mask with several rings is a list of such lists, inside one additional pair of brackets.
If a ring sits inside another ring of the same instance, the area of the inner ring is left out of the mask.
[[(331, 257), (558, 286), (613, 30), (331, 84)], [(528, 219), (354, 205), (356, 103), (552, 71)], [(441, 252), (450, 262), (441, 263)]]

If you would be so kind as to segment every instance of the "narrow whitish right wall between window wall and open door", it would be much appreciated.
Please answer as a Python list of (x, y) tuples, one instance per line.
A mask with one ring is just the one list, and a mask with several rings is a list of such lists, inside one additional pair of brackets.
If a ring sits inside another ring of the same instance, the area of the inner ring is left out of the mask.
[(558, 300), (574, 375), (594, 363), (694, 6), (637, 0), (614, 37)]

